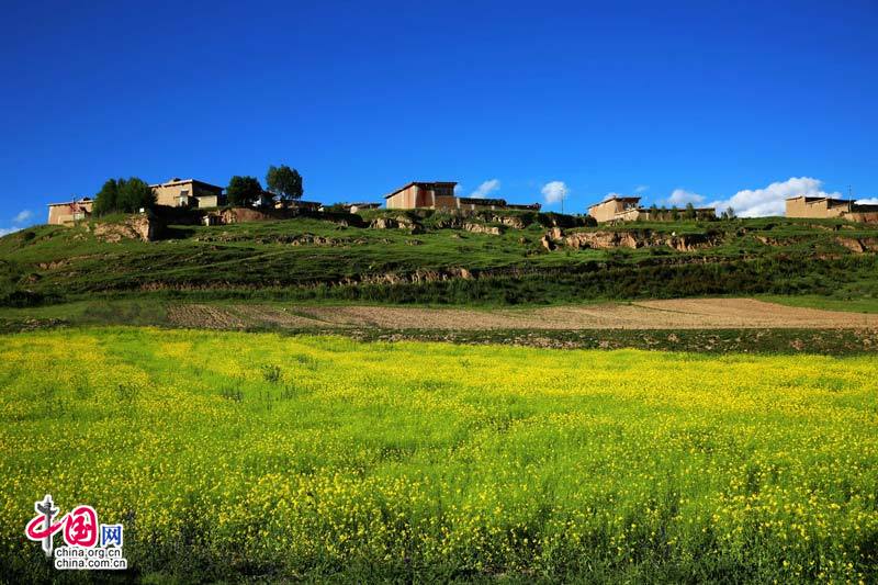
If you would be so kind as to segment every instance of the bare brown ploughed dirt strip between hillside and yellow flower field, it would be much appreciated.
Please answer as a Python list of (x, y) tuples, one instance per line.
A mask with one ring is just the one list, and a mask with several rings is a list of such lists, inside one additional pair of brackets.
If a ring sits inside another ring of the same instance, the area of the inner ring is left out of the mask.
[(175, 305), (184, 327), (381, 329), (878, 328), (878, 314), (799, 308), (753, 299), (685, 299), (526, 310)]

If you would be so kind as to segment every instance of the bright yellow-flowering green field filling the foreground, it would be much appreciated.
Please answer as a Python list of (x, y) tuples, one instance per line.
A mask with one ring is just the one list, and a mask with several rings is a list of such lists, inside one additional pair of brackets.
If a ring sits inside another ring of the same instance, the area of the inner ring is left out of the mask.
[(33, 504), (150, 581), (875, 582), (878, 362), (83, 328), (0, 337), (0, 581)]

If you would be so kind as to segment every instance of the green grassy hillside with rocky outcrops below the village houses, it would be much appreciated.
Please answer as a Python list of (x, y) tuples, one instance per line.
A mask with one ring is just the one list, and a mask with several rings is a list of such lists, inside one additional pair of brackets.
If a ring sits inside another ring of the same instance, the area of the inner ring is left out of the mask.
[[(368, 227), (401, 216), (401, 227)], [(178, 225), (158, 241), (104, 241), (94, 224), (38, 226), (0, 238), (0, 304), (135, 295), (485, 305), (707, 294), (878, 299), (876, 256), (855, 251), (875, 250), (878, 228), (840, 221), (576, 227), (570, 216), (534, 213), (348, 217)], [(548, 250), (541, 238), (553, 224), (574, 227)], [(498, 233), (482, 233), (489, 230)], [(597, 233), (643, 246), (576, 248), (563, 239)], [(694, 249), (662, 243), (680, 237)]]

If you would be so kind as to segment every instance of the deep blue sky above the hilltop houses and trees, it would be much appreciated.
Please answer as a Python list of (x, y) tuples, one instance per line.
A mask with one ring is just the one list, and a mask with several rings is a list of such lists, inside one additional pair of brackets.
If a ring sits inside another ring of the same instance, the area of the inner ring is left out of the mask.
[(81, 4), (3, 4), (0, 229), (108, 177), (281, 162), (323, 202), (878, 196), (871, 0)]

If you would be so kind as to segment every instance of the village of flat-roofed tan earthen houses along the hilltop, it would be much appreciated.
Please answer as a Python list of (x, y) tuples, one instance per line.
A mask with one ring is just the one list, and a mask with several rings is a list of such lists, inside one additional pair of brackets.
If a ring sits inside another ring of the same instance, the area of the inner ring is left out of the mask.
[[(301, 179), (300, 179), (301, 180)], [(257, 183), (258, 184), (258, 183)], [(199, 222), (204, 225), (232, 224), (241, 221), (285, 218), (301, 212), (342, 211), (359, 213), (365, 210), (440, 210), (453, 213), (477, 211), (531, 211), (539, 212), (539, 203), (517, 204), (505, 199), (459, 196), (454, 193), (455, 181), (410, 181), (383, 196), (381, 202), (337, 203), (326, 205), (299, 198), (279, 196), (279, 193), (260, 190), (246, 206), (230, 204), (226, 189), (198, 179), (171, 178), (162, 183), (150, 184), (155, 205), (199, 211)], [(713, 207), (644, 207), (641, 198), (614, 195), (587, 209), (586, 217), (598, 224), (629, 222), (672, 222), (677, 220), (713, 221)], [(80, 198), (48, 204), (48, 224), (69, 225), (88, 220), (94, 213), (94, 199)], [(138, 211), (146, 211), (145, 209)], [(731, 210), (724, 216), (733, 214)], [(732, 215), (733, 216), (733, 215)], [(878, 205), (862, 205), (853, 200), (797, 195), (786, 201), (787, 217), (844, 218), (859, 223), (878, 223)]]

